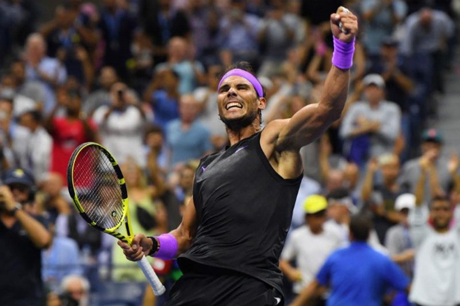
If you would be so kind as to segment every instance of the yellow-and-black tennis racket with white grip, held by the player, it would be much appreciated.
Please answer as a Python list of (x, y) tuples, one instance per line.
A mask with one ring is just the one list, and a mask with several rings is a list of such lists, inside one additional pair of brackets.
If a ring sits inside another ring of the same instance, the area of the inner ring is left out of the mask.
[[(110, 152), (95, 142), (78, 146), (67, 168), (68, 192), (80, 216), (99, 231), (131, 244), (133, 233), (128, 211), (128, 193), (123, 173)], [(118, 232), (125, 224), (126, 235)], [(165, 286), (159, 281), (145, 256), (137, 264), (144, 272), (155, 295)]]

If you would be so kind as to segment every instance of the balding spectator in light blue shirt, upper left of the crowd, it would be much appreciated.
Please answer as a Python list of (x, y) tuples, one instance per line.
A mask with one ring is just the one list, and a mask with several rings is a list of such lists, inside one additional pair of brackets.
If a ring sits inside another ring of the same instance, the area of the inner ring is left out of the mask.
[(67, 79), (65, 67), (55, 58), (46, 56), (47, 44), (38, 33), (29, 35), (26, 42), (26, 80), (39, 81), (45, 92), (43, 111), (48, 114), (56, 105), (53, 89)]

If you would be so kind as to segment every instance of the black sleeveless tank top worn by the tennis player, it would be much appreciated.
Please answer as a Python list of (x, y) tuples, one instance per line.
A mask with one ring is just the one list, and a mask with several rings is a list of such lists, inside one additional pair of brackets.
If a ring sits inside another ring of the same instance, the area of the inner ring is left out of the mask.
[(282, 293), (278, 259), (302, 180), (285, 180), (268, 162), (257, 133), (200, 161), (193, 199), (197, 232), (179, 259), (256, 277)]

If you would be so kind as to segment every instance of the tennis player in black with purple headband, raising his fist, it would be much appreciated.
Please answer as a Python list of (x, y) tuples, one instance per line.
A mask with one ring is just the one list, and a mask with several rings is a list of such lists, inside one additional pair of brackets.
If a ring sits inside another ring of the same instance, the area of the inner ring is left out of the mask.
[[(347, 31), (340, 31), (339, 22)], [(302, 179), (299, 150), (340, 118), (347, 98), (357, 18), (331, 14), (333, 66), (318, 104), (262, 130), (266, 100), (260, 82), (243, 64), (218, 85), (219, 116), (231, 146), (203, 158), (182, 223), (169, 234), (137, 234), (125, 256), (178, 257), (183, 276), (168, 305), (283, 305), (278, 259)]]

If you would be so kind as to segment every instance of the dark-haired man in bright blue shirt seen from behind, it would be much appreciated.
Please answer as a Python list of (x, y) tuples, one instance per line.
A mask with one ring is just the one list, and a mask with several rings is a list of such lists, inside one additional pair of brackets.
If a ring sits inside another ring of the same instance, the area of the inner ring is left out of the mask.
[(388, 288), (408, 290), (409, 280), (388, 257), (367, 245), (372, 223), (355, 215), (350, 221), (350, 246), (333, 252), (291, 306), (304, 305), (310, 297), (331, 289), (327, 305), (379, 306)]

